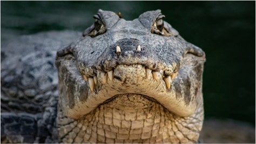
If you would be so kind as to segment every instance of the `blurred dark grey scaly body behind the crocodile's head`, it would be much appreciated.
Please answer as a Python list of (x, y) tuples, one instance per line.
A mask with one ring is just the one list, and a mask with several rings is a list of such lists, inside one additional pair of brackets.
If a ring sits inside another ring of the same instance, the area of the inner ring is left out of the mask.
[(1, 42), (1, 143), (52, 143), (56, 51), (80, 32), (51, 31)]

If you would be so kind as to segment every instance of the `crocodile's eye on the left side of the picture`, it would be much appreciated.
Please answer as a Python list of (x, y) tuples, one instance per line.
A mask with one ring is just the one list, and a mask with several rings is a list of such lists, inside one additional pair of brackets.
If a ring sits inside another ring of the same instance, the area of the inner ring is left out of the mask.
[(94, 28), (89, 33), (89, 36), (96, 37), (106, 32), (106, 26), (98, 15), (93, 16), (95, 18)]

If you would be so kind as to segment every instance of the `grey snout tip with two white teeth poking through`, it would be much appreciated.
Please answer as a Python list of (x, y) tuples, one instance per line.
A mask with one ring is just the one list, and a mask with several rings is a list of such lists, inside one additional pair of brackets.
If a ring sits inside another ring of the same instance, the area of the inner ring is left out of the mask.
[(137, 39), (121, 39), (109, 46), (98, 58), (95, 67), (100, 71), (111, 71), (117, 65), (143, 65), (159, 71), (161, 62), (151, 51), (150, 45)]

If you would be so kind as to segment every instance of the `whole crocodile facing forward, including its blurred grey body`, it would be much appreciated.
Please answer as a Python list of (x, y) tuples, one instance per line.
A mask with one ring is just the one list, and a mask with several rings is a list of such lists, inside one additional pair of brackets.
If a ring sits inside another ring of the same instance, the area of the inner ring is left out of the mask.
[(164, 17), (98, 10), (57, 68), (57, 46), (24, 50), (15, 66), (1, 51), (1, 142), (199, 142), (205, 53)]

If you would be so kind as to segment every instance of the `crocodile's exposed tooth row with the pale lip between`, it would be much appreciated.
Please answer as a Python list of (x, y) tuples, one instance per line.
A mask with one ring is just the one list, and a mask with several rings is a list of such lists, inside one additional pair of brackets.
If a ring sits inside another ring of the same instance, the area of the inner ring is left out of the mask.
[(137, 85), (142, 80), (154, 80), (164, 81), (167, 89), (170, 89), (172, 80), (177, 76), (177, 72), (173, 72), (169, 75), (164, 73), (164, 70), (155, 71), (150, 68), (146, 68), (140, 64), (118, 64), (112, 68), (111, 71), (102, 72), (94, 67), (88, 67), (85, 70), (85, 74), (82, 74), (84, 80), (93, 92), (97, 84), (107, 85), (111, 83), (113, 79), (120, 81), (123, 85)]

